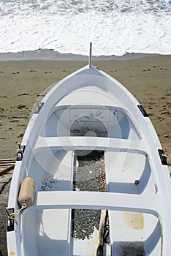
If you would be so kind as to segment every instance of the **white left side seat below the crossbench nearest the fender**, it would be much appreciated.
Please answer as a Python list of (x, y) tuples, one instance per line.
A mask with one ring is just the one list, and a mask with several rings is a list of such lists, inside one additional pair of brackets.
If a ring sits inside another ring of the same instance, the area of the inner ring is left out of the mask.
[(37, 208), (35, 211), (30, 207), (23, 211), (22, 224), (23, 242), (27, 249), (23, 255), (68, 255), (70, 209)]

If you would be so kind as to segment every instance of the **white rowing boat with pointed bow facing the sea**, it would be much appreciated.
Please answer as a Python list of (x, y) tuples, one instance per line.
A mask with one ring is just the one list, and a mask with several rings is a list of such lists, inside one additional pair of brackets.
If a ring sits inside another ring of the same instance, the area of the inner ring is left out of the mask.
[[(91, 151), (102, 154), (106, 191), (81, 189), (102, 175), (91, 165), (78, 185)], [(79, 209), (88, 225), (103, 214), (100, 227), (87, 233)], [(91, 63), (56, 83), (23, 136), (7, 211), (8, 255), (170, 255), (167, 159), (137, 99)]]

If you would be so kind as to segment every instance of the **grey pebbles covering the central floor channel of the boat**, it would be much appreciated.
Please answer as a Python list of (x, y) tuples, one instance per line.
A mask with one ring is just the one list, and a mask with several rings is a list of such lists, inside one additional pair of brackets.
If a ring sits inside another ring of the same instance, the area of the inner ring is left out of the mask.
[[(105, 192), (104, 152), (77, 155), (77, 161), (74, 190)], [(99, 229), (100, 215), (101, 210), (72, 209), (72, 237), (82, 240), (91, 238), (94, 227)]]

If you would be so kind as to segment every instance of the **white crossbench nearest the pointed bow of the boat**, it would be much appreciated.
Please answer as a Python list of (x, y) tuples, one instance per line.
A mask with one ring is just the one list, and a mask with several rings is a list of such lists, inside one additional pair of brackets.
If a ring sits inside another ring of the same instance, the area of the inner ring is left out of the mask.
[(124, 140), (118, 138), (100, 138), (100, 137), (42, 137), (39, 136), (34, 150), (40, 151), (45, 148), (65, 150), (107, 150), (107, 151), (129, 151), (139, 154), (147, 154), (143, 148), (144, 140)]

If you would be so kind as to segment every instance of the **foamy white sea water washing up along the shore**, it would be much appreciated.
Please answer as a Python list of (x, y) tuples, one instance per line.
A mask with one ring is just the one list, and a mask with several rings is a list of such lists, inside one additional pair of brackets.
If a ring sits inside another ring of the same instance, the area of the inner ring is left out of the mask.
[(171, 0), (0, 0), (0, 53), (171, 53)]

